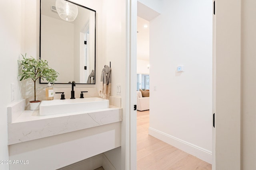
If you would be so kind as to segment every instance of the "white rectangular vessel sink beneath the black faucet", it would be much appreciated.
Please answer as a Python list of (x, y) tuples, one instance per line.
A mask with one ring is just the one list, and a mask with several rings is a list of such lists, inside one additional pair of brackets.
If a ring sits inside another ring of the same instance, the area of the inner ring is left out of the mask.
[(40, 104), (40, 115), (54, 115), (109, 107), (109, 100), (102, 98), (76, 98), (65, 100), (43, 100)]

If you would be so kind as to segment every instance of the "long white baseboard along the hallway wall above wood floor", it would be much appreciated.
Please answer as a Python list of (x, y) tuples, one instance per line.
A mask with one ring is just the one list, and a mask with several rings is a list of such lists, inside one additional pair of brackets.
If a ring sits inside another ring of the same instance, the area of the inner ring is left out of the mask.
[(202, 159), (205, 162), (212, 164), (212, 152), (210, 150), (203, 149), (201, 147), (193, 145), (192, 143), (188, 143), (151, 127), (148, 128), (148, 134), (180, 150), (192, 154), (193, 156), (196, 156), (197, 158)]

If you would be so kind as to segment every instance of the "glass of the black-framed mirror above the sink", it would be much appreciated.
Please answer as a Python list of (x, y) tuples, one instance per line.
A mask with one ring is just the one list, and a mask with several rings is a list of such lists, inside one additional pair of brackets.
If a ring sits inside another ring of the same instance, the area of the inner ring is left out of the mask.
[(40, 0), (40, 58), (59, 73), (57, 84), (95, 84), (96, 11), (62, 1), (67, 4), (64, 10), (72, 13), (68, 5), (73, 4), (78, 9), (74, 21), (60, 18), (56, 0)]

